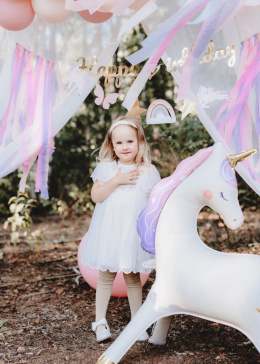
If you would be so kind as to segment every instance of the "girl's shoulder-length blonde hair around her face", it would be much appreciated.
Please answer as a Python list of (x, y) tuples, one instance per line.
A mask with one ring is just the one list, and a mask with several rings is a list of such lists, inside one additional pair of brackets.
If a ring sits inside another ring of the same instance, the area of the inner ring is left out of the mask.
[(147, 141), (145, 139), (144, 130), (138, 121), (137, 118), (134, 116), (119, 116), (117, 119), (115, 119), (110, 128), (107, 131), (105, 140), (100, 148), (98, 159), (101, 162), (112, 162), (114, 160), (118, 160), (118, 157), (116, 153), (114, 152), (114, 147), (112, 143), (112, 132), (111, 127), (113, 124), (120, 120), (125, 120), (133, 123), (135, 127), (132, 125), (129, 125), (130, 128), (135, 130), (136, 136), (137, 136), (137, 142), (138, 142), (138, 153), (135, 157), (135, 164), (137, 167), (139, 167), (141, 164), (144, 164), (146, 166), (149, 166), (151, 163), (151, 157), (150, 157), (150, 150), (147, 144)]

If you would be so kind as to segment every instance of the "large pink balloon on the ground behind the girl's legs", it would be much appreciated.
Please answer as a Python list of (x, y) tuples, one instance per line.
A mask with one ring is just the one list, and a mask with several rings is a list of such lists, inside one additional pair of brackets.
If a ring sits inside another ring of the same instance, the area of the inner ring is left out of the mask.
[[(97, 282), (98, 282), (98, 276), (99, 276), (99, 270), (90, 268), (87, 265), (83, 265), (81, 263), (81, 254), (83, 250), (84, 245), (84, 239), (81, 240), (79, 244), (78, 249), (78, 265), (80, 273), (82, 274), (85, 281), (90, 285), (90, 287), (97, 289)], [(147, 279), (149, 277), (149, 274), (140, 274), (142, 286), (146, 283)], [(127, 290), (126, 290), (126, 284), (124, 280), (124, 276), (122, 272), (117, 273), (116, 278), (113, 283), (112, 288), (112, 296), (113, 297), (127, 297)]]

